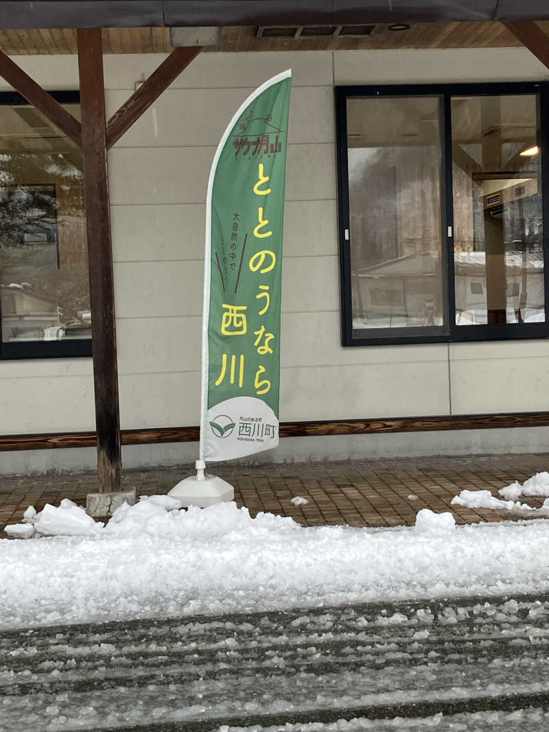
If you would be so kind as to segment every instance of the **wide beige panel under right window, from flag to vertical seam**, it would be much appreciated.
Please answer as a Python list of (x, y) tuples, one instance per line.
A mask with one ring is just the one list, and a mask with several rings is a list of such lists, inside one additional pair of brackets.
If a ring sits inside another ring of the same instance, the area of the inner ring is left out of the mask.
[(285, 368), (280, 419), (449, 414), (444, 362)]

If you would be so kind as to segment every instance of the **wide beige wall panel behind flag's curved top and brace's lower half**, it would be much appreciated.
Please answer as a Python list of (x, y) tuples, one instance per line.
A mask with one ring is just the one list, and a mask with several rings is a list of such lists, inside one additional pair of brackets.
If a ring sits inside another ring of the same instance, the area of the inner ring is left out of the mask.
[[(116, 147), (217, 146), (225, 127), (250, 89), (169, 89), (130, 127)], [(124, 103), (127, 91), (108, 91), (108, 116)], [(331, 86), (291, 90), (290, 143), (332, 142)]]

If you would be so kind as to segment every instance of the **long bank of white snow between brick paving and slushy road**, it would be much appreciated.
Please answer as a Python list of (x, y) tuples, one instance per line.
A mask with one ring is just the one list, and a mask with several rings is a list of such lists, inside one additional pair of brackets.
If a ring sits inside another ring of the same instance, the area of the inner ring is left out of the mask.
[[(304, 528), (178, 505), (153, 496), (89, 534), (0, 540), (0, 627), (549, 591), (548, 520)], [(64, 529), (70, 514), (70, 501), (45, 512)], [(37, 530), (42, 517), (29, 512)]]

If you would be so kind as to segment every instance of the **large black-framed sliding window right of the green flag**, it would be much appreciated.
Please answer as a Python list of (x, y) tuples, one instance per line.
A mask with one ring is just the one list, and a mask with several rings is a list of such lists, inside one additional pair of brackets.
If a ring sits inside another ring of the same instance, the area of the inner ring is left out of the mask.
[(336, 89), (344, 345), (549, 335), (548, 93)]

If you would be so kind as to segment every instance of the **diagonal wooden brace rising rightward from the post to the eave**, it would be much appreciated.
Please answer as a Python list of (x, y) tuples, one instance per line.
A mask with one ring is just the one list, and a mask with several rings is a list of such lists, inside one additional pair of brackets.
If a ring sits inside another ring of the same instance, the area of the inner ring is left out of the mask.
[(135, 91), (127, 102), (109, 120), (107, 126), (107, 149), (110, 149), (124, 132), (130, 129), (132, 124), (154, 102), (160, 94), (168, 89), (168, 86), (176, 79), (193, 59), (201, 52), (201, 48), (176, 48), (170, 53), (167, 59), (160, 64), (156, 71)]

